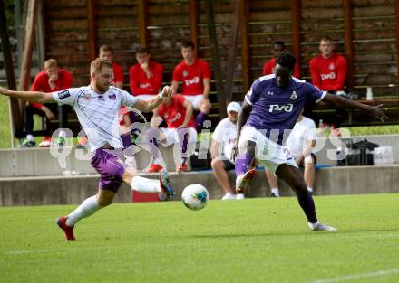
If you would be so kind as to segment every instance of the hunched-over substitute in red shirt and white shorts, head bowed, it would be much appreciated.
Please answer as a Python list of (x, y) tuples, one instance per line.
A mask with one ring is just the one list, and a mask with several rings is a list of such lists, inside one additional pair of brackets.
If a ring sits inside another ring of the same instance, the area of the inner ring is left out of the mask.
[[(196, 124), (192, 113), (192, 104), (181, 95), (164, 99), (161, 106), (154, 110), (154, 116), (151, 119), (152, 128), (146, 133), (153, 157), (152, 164), (146, 170), (147, 172), (159, 172), (164, 166), (158, 142), (162, 146), (180, 146), (180, 156), (173, 156), (177, 164), (176, 171), (187, 171), (186, 161), (197, 141)], [(167, 128), (156, 128), (159, 125), (159, 118), (166, 122)]]

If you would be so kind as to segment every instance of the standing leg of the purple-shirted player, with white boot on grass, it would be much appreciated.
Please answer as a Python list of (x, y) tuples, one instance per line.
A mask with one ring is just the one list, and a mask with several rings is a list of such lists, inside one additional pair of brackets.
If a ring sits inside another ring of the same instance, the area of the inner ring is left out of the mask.
[(310, 230), (336, 231), (334, 227), (321, 224), (317, 221), (316, 207), (312, 195), (307, 191), (307, 184), (297, 167), (282, 164), (276, 171), (278, 178), (284, 180), (297, 193), (297, 201), (307, 216)]

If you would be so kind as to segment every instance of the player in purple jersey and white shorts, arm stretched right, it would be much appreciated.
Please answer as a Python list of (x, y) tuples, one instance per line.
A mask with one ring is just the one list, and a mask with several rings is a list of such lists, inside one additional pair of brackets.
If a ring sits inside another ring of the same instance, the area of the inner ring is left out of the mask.
[(283, 146), (284, 136), (287, 136), (285, 132), (294, 127), (306, 103), (318, 103), (321, 100), (336, 108), (360, 109), (380, 120), (387, 117), (378, 107), (332, 95), (310, 83), (293, 78), (296, 59), (291, 53), (278, 55), (276, 62), (276, 73), (255, 80), (238, 114), (239, 138), (233, 150), (233, 156), (236, 156), (239, 148), (236, 159), (236, 191), (238, 196), (243, 195), (257, 174), (255, 169), (248, 170), (257, 158), (297, 193), (298, 203), (307, 216), (310, 230), (336, 231), (335, 228), (318, 222), (315, 203), (307, 191), (307, 184), (294, 157)]

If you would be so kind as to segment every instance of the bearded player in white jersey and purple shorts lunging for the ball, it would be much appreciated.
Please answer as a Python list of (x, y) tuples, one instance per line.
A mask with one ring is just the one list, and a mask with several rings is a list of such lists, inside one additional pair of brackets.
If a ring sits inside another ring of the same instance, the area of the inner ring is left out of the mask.
[(75, 240), (73, 227), (76, 222), (112, 203), (122, 182), (131, 184), (131, 188), (138, 192), (160, 192), (169, 198), (174, 194), (166, 170), (161, 171), (159, 181), (143, 178), (133, 170), (127, 170), (127, 165), (122, 162), (122, 141), (118, 123), (118, 111), (122, 105), (134, 107), (142, 112), (151, 112), (161, 104), (162, 99), (171, 96), (170, 86), (164, 87), (158, 96), (149, 101), (136, 99), (128, 92), (112, 86), (112, 64), (100, 58), (92, 61), (90, 77), (89, 86), (53, 93), (14, 91), (0, 87), (0, 93), (16, 99), (39, 103), (56, 101), (59, 104), (71, 105), (87, 134), (92, 151), (91, 164), (101, 175), (99, 190), (96, 195), (84, 200), (73, 212), (57, 219), (66, 240)]

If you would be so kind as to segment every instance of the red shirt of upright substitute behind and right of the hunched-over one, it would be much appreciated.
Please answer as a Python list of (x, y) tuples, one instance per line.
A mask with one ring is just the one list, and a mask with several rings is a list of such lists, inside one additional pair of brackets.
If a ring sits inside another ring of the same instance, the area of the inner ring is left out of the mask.
[(181, 61), (173, 71), (173, 80), (182, 81), (182, 95), (203, 94), (204, 79), (210, 79), (209, 65), (198, 58), (190, 66)]

